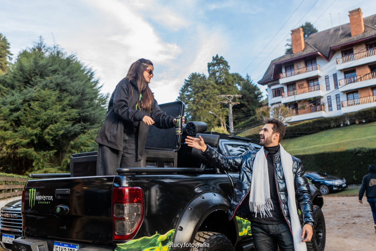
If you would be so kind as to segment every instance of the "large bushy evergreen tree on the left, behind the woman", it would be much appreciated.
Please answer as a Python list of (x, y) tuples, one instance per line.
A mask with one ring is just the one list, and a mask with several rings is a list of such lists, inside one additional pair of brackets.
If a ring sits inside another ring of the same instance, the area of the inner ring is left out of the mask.
[(108, 95), (75, 55), (42, 38), (0, 76), (2, 172), (65, 172), (73, 153), (96, 151)]

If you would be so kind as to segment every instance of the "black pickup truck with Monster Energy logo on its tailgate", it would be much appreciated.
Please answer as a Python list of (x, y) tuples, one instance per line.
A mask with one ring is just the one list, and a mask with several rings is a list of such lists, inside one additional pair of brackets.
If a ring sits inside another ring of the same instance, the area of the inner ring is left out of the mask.
[[(184, 104), (161, 105), (171, 116)], [(96, 152), (74, 154), (70, 174), (30, 175), (22, 195), (23, 237), (13, 251), (252, 250), (246, 218), (227, 219), (239, 173), (211, 166), (186, 135), (201, 135), (223, 155), (260, 148), (258, 140), (205, 132), (189, 122), (183, 135), (174, 128), (150, 127), (144, 165), (96, 176)], [(317, 224), (309, 250), (323, 250), (323, 198), (311, 194)]]

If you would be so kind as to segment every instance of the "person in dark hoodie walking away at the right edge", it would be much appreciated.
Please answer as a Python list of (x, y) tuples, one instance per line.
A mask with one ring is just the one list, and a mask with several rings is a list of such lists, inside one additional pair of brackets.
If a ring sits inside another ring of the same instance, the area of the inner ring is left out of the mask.
[(365, 196), (367, 197), (367, 202), (371, 206), (374, 228), (376, 232), (376, 166), (374, 164), (370, 164), (368, 166), (368, 174), (364, 175), (362, 186), (359, 190), (359, 202), (363, 204), (362, 198), (365, 192)]

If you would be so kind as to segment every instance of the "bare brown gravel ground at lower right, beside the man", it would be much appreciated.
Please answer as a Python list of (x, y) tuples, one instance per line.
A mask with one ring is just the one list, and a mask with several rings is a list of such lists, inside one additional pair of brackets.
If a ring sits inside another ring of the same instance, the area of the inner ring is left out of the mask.
[(367, 199), (324, 196), (326, 251), (375, 251), (376, 233)]

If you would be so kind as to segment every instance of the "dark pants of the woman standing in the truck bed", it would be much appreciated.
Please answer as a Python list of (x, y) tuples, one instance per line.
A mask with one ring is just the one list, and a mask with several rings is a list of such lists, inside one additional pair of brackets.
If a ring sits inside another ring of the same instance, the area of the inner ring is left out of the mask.
[(97, 175), (117, 175), (120, 167), (141, 167), (137, 160), (138, 134), (124, 133), (123, 151), (98, 145)]

